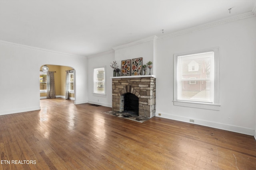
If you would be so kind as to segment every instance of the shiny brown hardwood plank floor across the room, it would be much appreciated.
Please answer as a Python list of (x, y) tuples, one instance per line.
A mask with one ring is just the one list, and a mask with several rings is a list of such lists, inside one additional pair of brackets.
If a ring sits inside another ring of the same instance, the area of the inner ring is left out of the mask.
[(256, 170), (252, 136), (159, 117), (138, 123), (61, 98), (40, 105), (0, 116), (0, 169)]

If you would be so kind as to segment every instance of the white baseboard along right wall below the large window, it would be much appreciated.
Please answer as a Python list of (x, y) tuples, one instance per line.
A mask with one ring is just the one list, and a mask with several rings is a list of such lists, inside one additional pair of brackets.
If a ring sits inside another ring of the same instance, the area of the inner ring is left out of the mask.
[(182, 121), (182, 122), (186, 122), (186, 123), (192, 123), (192, 122), (190, 122), (190, 119), (193, 119), (194, 123), (192, 123), (192, 124), (213, 127), (216, 129), (222, 129), (222, 130), (226, 130), (226, 131), (232, 131), (232, 132), (242, 133), (245, 135), (251, 135), (251, 136), (256, 137), (255, 129), (249, 129), (246, 127), (239, 127), (239, 126), (228, 125), (228, 124), (223, 124), (223, 123), (218, 123), (218, 122), (204, 121), (204, 120), (200, 120), (200, 119), (194, 119), (191, 117), (182, 117), (182, 116), (170, 115), (170, 114), (166, 114), (166, 113), (161, 113), (161, 115), (158, 115), (158, 113), (156, 113), (156, 117), (162, 117), (162, 118), (172, 119), (172, 120), (176, 120), (176, 121)]

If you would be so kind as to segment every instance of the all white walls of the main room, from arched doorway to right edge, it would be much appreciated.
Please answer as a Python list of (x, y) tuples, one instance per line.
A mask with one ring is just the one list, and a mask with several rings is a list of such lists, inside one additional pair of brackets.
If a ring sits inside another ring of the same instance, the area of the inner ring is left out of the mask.
[[(43, 64), (76, 70), (76, 104), (112, 106), (110, 63), (143, 57), (153, 61), (156, 116), (256, 135), (256, 17), (228, 22), (184, 35), (147, 41), (88, 57), (73, 57), (0, 41), (0, 115), (40, 109), (39, 68)], [(220, 111), (174, 106), (173, 55), (219, 47)], [(106, 65), (106, 96), (92, 94), (92, 70)], [(88, 67), (88, 74), (87, 74)], [(22, 71), (21, 71), (22, 70)], [(157, 73), (156, 73), (157, 70)], [(23, 74), (26, 73), (26, 76)], [(109, 78), (109, 79), (108, 79)], [(88, 81), (88, 82), (87, 82)], [(26, 85), (25, 83), (28, 83)]]

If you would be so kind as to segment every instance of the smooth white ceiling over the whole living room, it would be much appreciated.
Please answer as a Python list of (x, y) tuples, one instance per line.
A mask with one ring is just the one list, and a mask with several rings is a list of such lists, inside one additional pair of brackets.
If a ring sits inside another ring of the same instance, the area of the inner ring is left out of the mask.
[(90, 56), (255, 6), (256, 0), (0, 0), (0, 40)]

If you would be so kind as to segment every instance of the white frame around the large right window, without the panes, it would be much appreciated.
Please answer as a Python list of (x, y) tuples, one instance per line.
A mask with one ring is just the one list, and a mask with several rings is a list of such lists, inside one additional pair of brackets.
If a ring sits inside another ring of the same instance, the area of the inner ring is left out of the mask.
[[(206, 53), (206, 52), (214, 52), (214, 92), (213, 92), (213, 102), (212, 103), (204, 103), (204, 102), (190, 102), (177, 100), (178, 91), (177, 91), (177, 64), (178, 57), (182, 55), (192, 55), (197, 53)], [(195, 107), (201, 109), (211, 109), (211, 110), (220, 110), (219, 104), (219, 48), (214, 47), (210, 49), (203, 49), (198, 51), (186, 52), (186, 53), (178, 53), (174, 54), (174, 105), (175, 106), (184, 106), (184, 107)]]

